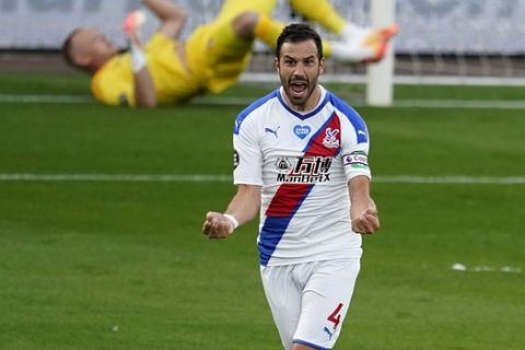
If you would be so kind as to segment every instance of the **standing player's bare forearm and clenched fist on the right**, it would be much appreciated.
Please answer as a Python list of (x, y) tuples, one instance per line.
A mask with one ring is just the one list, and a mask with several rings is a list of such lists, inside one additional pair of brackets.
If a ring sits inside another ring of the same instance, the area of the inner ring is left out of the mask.
[(352, 177), (348, 183), (350, 191), (350, 218), (352, 231), (370, 234), (380, 229), (380, 217), (374, 200), (370, 196), (370, 178), (364, 175)]

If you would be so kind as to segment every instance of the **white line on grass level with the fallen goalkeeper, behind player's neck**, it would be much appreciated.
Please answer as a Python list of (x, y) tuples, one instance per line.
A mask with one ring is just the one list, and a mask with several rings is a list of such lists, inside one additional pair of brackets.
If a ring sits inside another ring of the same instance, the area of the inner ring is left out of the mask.
[[(225, 96), (199, 96), (191, 104), (238, 106), (248, 105), (253, 98), (225, 97)], [(0, 94), (0, 103), (95, 103), (93, 97), (85, 95), (25, 95), (25, 94)], [(364, 107), (363, 103), (352, 103), (355, 107)], [(480, 108), (480, 109), (525, 109), (523, 101), (481, 101), (481, 100), (397, 100), (393, 107), (419, 107), (419, 108)]]

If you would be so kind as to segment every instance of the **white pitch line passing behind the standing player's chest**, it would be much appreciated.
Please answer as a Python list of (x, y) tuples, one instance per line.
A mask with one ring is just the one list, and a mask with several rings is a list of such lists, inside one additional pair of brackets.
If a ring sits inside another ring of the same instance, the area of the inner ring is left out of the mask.
[[(128, 182), (128, 183), (231, 183), (230, 175), (205, 174), (0, 174), (0, 182)], [(377, 175), (383, 184), (524, 185), (525, 176), (410, 176)]]

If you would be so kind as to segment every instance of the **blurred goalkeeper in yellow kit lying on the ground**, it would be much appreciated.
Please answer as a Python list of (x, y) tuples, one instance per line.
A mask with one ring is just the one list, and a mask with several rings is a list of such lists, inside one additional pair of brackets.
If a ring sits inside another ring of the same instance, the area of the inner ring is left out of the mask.
[[(225, 0), (211, 23), (179, 39), (187, 12), (171, 0), (142, 1), (160, 20), (159, 31), (142, 43), (141, 12), (122, 25), (130, 50), (120, 52), (102, 33), (77, 28), (62, 52), (71, 66), (93, 77), (94, 97), (108, 105), (155, 107), (180, 104), (234, 84), (252, 57), (255, 38), (275, 47), (284, 24), (270, 18), (277, 0)], [(294, 11), (338, 34), (324, 40), (326, 57), (342, 62), (376, 62), (387, 50), (397, 26), (382, 30), (355, 26), (339, 16), (326, 0), (290, 0)]]

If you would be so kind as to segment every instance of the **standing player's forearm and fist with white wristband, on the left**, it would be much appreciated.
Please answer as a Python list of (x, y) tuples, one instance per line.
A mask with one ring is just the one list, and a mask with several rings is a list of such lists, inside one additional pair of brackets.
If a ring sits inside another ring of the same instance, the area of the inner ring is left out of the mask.
[(225, 238), (233, 231), (249, 221), (258, 213), (260, 207), (260, 186), (237, 185), (224, 213), (209, 211), (202, 225), (202, 233), (210, 238)]

